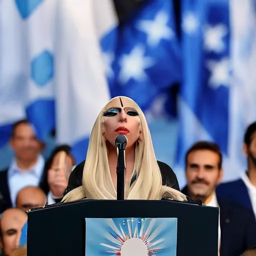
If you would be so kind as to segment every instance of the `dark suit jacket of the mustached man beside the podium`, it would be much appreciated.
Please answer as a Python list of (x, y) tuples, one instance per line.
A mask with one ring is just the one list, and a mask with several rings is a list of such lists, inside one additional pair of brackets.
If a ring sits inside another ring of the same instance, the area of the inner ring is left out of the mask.
[[(188, 195), (187, 186), (181, 192)], [(220, 256), (239, 256), (256, 245), (256, 221), (251, 210), (217, 196), (221, 230)]]

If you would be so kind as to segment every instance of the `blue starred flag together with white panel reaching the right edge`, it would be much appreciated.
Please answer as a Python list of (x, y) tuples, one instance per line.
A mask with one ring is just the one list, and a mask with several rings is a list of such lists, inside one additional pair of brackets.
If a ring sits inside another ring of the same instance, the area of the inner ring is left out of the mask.
[(256, 28), (253, 0), (183, 0), (183, 83), (179, 92), (177, 173), (185, 184), (184, 156), (197, 140), (216, 142), (223, 180), (244, 171), (242, 140), (256, 119)]

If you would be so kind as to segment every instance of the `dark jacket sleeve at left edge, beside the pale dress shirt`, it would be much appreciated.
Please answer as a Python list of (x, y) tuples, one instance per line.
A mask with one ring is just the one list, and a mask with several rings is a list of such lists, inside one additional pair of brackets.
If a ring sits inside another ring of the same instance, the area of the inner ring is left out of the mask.
[(12, 207), (7, 180), (7, 169), (0, 171), (0, 213), (5, 209)]

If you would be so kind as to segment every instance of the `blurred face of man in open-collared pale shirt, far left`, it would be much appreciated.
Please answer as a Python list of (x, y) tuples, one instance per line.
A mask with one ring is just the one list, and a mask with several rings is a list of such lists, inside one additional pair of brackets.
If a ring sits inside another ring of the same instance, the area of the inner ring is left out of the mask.
[(28, 123), (21, 123), (16, 127), (10, 145), (16, 157), (25, 161), (36, 159), (42, 150), (42, 143), (37, 140)]

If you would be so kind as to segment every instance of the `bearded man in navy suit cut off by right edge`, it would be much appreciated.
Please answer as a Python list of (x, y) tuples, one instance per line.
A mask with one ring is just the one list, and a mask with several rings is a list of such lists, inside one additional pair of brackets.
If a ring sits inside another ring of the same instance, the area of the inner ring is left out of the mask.
[(256, 122), (247, 127), (243, 152), (247, 157), (247, 171), (234, 181), (220, 184), (216, 192), (219, 197), (252, 210), (256, 217)]

